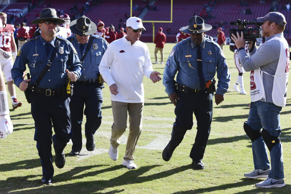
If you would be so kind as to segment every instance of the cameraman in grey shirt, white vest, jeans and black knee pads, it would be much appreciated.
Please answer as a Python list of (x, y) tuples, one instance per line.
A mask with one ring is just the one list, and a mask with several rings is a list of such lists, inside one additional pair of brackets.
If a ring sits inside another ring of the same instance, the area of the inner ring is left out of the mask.
[[(289, 46), (283, 36), (286, 20), (279, 12), (269, 12), (257, 18), (263, 22), (263, 36), (266, 42), (254, 48), (247, 56), (245, 40), (237, 32), (232, 40), (239, 48), (239, 59), (246, 71), (251, 71), (251, 104), (249, 118), (244, 130), (252, 141), (255, 169), (244, 176), (250, 179), (267, 178), (256, 187), (283, 187), (283, 147), (280, 142), (280, 112), (286, 105), (287, 82), (289, 75)], [(250, 45), (249, 45), (250, 46)], [(263, 128), (262, 131), (260, 131)], [(270, 151), (268, 160), (267, 148)]]

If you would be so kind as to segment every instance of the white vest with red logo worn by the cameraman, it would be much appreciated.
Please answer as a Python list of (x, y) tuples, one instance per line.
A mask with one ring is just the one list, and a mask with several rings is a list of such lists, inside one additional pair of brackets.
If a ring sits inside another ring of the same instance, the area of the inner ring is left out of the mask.
[(251, 100), (252, 102), (256, 102), (262, 98), (266, 99), (263, 85), (263, 73), (266, 73), (274, 77), (272, 92), (273, 103), (277, 106), (283, 107), (286, 105), (287, 99), (287, 83), (289, 76), (290, 51), (289, 45), (285, 38), (274, 37), (268, 40), (267, 42), (273, 40), (278, 40), (281, 45), (279, 62), (275, 75), (270, 75), (267, 72), (263, 72), (261, 68), (251, 71), (250, 73)]

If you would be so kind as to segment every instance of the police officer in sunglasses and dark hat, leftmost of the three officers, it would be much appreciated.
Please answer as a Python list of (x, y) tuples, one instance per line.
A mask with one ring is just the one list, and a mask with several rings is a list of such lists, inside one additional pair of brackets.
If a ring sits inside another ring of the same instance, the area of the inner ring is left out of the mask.
[[(82, 71), (73, 45), (68, 40), (55, 36), (57, 24), (64, 22), (57, 17), (55, 9), (42, 10), (39, 19), (32, 21), (39, 25), (41, 35), (23, 44), (11, 70), (15, 85), (21, 91), (29, 91), (28, 99), (31, 101), (31, 113), (35, 121), (34, 140), (42, 163), (43, 184), (52, 184), (52, 142), (55, 165), (58, 168), (65, 165), (63, 149), (71, 138), (70, 98), (66, 93), (66, 83), (69, 79), (76, 81)], [(23, 80), (26, 64), (31, 79)], [(45, 69), (47, 70), (44, 71)], [(55, 131), (53, 136), (52, 124)]]

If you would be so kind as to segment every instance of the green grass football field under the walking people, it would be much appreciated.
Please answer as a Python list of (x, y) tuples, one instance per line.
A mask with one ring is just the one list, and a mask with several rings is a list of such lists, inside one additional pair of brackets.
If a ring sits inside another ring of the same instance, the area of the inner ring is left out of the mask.
[[(154, 59), (153, 43), (147, 43), (152, 62)], [(165, 59), (174, 44), (166, 44)], [(18, 88), (17, 98), (22, 107), (10, 116), (14, 132), (7, 139), (0, 141), (0, 193), (207, 193), (207, 194), (289, 194), (291, 190), (291, 87), (287, 96), (287, 105), (281, 112), (280, 135), (283, 143), (284, 172), (286, 186), (283, 188), (261, 189), (254, 187), (264, 179), (247, 179), (243, 174), (253, 170), (251, 141), (243, 130), (250, 103), (249, 72), (244, 75), (247, 95), (240, 95), (233, 90), (238, 75), (233, 54), (229, 47), (224, 48), (231, 85), (225, 94), (225, 100), (213, 105), (213, 121), (208, 145), (203, 162), (205, 170), (194, 170), (190, 165), (189, 153), (196, 136), (196, 121), (192, 130), (187, 131), (184, 140), (173, 153), (172, 159), (165, 162), (162, 150), (170, 139), (172, 123), (175, 122), (174, 105), (164, 91), (162, 82), (153, 84), (144, 79), (145, 107), (143, 111), (142, 134), (135, 150), (135, 164), (138, 168), (124, 168), (122, 158), (128, 129), (122, 136), (119, 146), (119, 159), (112, 161), (108, 156), (111, 134), (112, 110), (109, 87), (103, 89), (102, 124), (95, 133), (96, 148), (88, 152), (85, 148), (81, 155), (70, 157), (72, 144), (65, 148), (66, 164), (63, 169), (55, 167), (52, 186), (40, 184), (42, 167), (36, 149), (34, 121), (30, 105), (24, 93)], [(163, 73), (164, 65), (153, 65), (154, 70)], [(291, 79), (289, 77), (289, 79)], [(289, 82), (290, 83), (290, 82)], [(10, 96), (8, 95), (8, 99)], [(10, 102), (10, 100), (9, 100)], [(11, 103), (9, 107), (11, 107)], [(83, 134), (85, 117), (82, 125)], [(52, 149), (53, 150), (53, 149)], [(53, 155), (54, 155), (54, 151)]]

